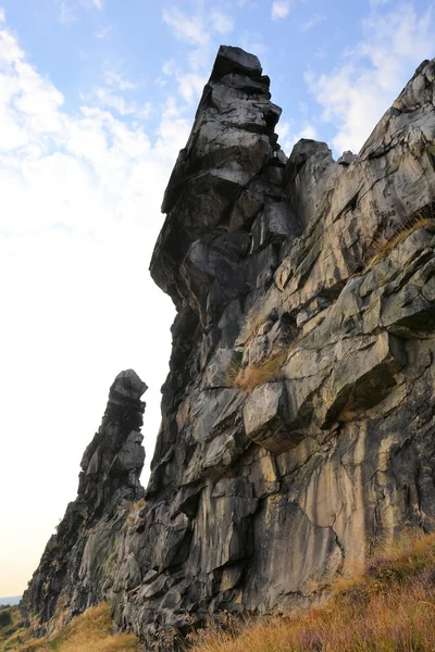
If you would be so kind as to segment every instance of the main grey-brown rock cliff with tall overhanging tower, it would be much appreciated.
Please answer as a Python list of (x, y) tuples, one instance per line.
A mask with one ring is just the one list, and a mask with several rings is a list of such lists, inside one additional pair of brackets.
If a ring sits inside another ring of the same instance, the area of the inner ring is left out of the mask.
[[(435, 60), (358, 156), (301, 140), (287, 159), (278, 117), (257, 58), (221, 48), (151, 262), (177, 316), (146, 499), (128, 516), (107, 471), (80, 481), (96, 529), (40, 612), (63, 529), (49, 543), (25, 598), (42, 622), (54, 593), (74, 613), (111, 599), (120, 628), (170, 650), (220, 610), (308, 602), (373, 537), (433, 527)], [(112, 468), (91, 455), (85, 473)]]

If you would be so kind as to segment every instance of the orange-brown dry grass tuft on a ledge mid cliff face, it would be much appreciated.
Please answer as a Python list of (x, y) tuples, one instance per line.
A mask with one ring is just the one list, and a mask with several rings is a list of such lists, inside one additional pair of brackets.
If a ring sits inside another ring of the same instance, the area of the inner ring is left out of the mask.
[(227, 383), (240, 391), (252, 391), (259, 385), (283, 378), (283, 365), (287, 360), (288, 348), (279, 349), (257, 365), (240, 367), (232, 365), (227, 371)]

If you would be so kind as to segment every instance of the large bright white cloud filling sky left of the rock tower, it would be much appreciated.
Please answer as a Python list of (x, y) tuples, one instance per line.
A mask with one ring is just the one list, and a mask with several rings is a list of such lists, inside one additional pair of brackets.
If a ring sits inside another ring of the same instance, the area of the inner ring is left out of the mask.
[[(109, 80), (129, 86), (117, 73)], [(13, 503), (2, 505), (0, 594), (16, 594), (76, 493), (83, 450), (123, 368), (136, 368), (150, 385), (144, 427), (150, 461), (173, 306), (147, 267), (190, 121), (174, 100), (152, 134), (95, 101), (71, 114), (1, 27), (0, 86), (0, 277), (9, 279), (0, 289), (8, 432), (0, 492), (15, 487)], [(16, 464), (25, 482), (15, 481)], [(17, 512), (16, 504), (28, 505), (28, 487), (38, 510)]]

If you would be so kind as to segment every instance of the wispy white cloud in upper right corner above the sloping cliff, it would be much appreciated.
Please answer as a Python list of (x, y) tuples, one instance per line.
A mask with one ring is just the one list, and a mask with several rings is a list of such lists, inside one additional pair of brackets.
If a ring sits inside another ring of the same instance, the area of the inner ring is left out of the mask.
[(337, 128), (337, 153), (359, 151), (403, 83), (433, 53), (434, 27), (431, 11), (419, 15), (410, 2), (382, 16), (374, 12), (363, 23), (363, 40), (340, 66), (320, 77), (306, 75), (323, 120)]

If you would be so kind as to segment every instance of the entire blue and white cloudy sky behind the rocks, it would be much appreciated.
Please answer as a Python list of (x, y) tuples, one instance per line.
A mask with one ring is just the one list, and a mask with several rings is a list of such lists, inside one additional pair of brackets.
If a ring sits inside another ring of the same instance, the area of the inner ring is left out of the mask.
[(147, 383), (147, 466), (171, 300), (148, 266), (221, 43), (257, 54), (301, 137), (358, 150), (424, 59), (435, 0), (0, 0), (0, 595), (74, 500), (110, 385)]

